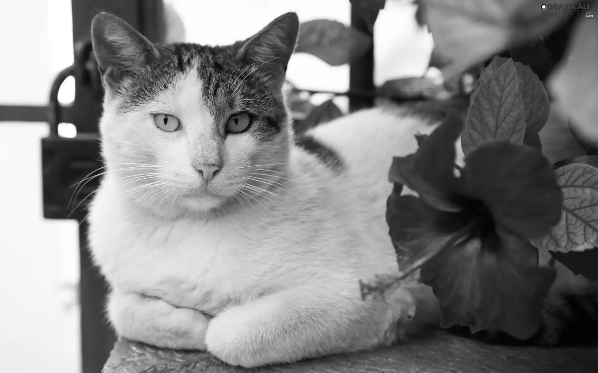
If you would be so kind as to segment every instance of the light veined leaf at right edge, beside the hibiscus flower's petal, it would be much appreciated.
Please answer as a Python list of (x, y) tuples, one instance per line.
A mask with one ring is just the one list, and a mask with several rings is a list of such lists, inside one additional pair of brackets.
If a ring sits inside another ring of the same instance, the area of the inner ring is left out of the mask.
[(584, 251), (598, 246), (598, 169), (570, 164), (556, 170), (563, 211), (550, 233), (532, 241), (550, 251)]

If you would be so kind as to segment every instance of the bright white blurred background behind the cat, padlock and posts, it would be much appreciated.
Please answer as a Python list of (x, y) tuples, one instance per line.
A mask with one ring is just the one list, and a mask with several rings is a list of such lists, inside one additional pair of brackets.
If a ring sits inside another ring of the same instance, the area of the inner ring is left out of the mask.
[[(83, 372), (78, 221), (44, 218), (41, 139), (49, 129), (45, 111), (32, 108), (47, 106), (54, 78), (74, 62), (74, 39), (81, 38), (83, 27), (77, 20), (90, 20), (93, 10), (115, 4), (72, 1), (0, 1), (0, 371), (7, 373)], [(296, 11), (301, 21), (350, 23), (348, 0), (172, 0), (164, 10), (168, 38), (200, 44), (247, 38), (288, 11)], [(422, 75), (428, 67), (432, 39), (417, 26), (415, 10), (408, 1), (396, 1), (380, 12), (374, 32), (377, 84)], [(329, 66), (300, 53), (291, 59), (288, 79), (310, 90), (346, 91), (349, 66)], [(329, 97), (312, 100), (318, 104)], [(72, 76), (58, 98), (64, 106), (74, 100)], [(346, 112), (346, 98), (335, 103)], [(76, 132), (71, 123), (59, 125), (63, 137)], [(86, 338), (99, 337), (90, 333)], [(90, 343), (88, 349), (97, 349)]]

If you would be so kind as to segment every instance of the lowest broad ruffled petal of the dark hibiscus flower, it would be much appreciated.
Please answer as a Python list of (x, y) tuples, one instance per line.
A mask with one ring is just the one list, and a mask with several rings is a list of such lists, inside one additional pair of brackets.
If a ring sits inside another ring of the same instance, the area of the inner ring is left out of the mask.
[(420, 280), (440, 301), (443, 328), (498, 329), (526, 340), (541, 326), (544, 298), (556, 279), (553, 268), (537, 263), (535, 247), (500, 232), (443, 249), (423, 264)]

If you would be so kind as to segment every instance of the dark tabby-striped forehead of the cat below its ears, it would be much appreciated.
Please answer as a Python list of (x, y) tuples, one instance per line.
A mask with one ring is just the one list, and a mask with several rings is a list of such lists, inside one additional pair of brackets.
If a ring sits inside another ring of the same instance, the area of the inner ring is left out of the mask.
[[(260, 122), (252, 128), (253, 134), (269, 138), (280, 132), (287, 120), (280, 88), (276, 88), (274, 78), (259, 65), (246, 64), (236, 58), (237, 48), (237, 44), (157, 47), (158, 58), (145, 69), (124, 77), (118, 85), (120, 110), (139, 110), (169, 95), (191, 95), (203, 101), (201, 106), (220, 124), (218, 127), (224, 128), (231, 114), (247, 112)], [(182, 91), (181, 84), (185, 87)], [(183, 98), (190, 102), (194, 97)]]

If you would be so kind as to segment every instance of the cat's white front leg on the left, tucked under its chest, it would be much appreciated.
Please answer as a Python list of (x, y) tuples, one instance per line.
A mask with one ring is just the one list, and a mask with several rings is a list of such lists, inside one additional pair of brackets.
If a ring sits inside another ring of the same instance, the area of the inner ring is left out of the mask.
[(157, 347), (205, 350), (209, 318), (192, 309), (132, 292), (114, 291), (108, 317), (120, 337)]

